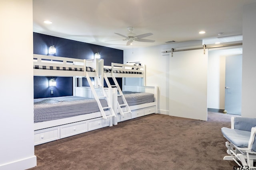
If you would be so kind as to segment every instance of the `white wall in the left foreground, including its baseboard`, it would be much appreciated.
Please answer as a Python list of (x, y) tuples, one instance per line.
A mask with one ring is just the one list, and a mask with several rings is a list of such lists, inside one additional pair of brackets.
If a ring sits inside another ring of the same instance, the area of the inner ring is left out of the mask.
[(32, 0), (0, 2), (1, 170), (36, 166), (32, 17)]

